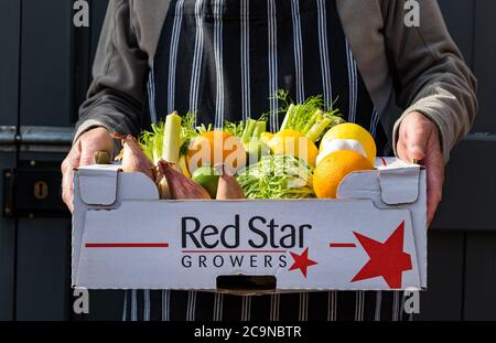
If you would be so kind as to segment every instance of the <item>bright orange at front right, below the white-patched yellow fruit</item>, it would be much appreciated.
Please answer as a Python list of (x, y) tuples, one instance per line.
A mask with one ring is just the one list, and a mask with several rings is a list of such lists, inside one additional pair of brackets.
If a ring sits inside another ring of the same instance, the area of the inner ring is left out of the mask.
[(319, 162), (313, 173), (313, 190), (320, 199), (336, 199), (343, 179), (355, 171), (373, 170), (367, 158), (352, 150), (338, 150)]

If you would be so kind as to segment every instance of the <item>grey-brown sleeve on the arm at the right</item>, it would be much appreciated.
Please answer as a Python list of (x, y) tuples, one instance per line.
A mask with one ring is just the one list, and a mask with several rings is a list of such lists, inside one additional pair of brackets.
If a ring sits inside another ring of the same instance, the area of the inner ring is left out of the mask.
[(418, 2), (418, 26), (405, 23), (405, 1), (388, 2), (386, 45), (396, 76), (397, 103), (406, 108), (393, 126), (393, 149), (401, 120), (419, 111), (438, 126), (448, 162), (450, 150), (468, 133), (475, 119), (476, 79), (450, 36), (436, 1)]

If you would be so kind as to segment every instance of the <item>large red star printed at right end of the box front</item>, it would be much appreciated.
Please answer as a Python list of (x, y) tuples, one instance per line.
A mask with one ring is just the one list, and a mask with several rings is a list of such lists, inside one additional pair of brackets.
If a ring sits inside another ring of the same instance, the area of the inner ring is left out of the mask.
[(385, 243), (354, 234), (370, 259), (352, 282), (382, 277), (389, 288), (401, 288), (402, 272), (412, 268), (410, 255), (403, 251), (405, 222)]

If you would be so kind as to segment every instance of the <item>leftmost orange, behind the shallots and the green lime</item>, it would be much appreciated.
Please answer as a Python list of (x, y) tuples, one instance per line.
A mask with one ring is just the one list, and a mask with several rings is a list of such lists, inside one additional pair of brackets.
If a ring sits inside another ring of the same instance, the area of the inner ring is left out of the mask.
[(202, 165), (226, 164), (231, 170), (245, 167), (246, 151), (242, 143), (229, 132), (213, 130), (192, 140), (186, 153), (187, 168), (193, 173)]

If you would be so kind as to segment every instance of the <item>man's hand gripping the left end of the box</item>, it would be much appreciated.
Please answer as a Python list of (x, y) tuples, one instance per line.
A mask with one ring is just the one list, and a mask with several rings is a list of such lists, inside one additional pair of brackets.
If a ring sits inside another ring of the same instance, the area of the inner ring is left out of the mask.
[(105, 128), (91, 129), (77, 139), (73, 149), (62, 162), (62, 199), (71, 212), (73, 212), (73, 170), (82, 165), (95, 163), (95, 152), (114, 151), (114, 141)]

